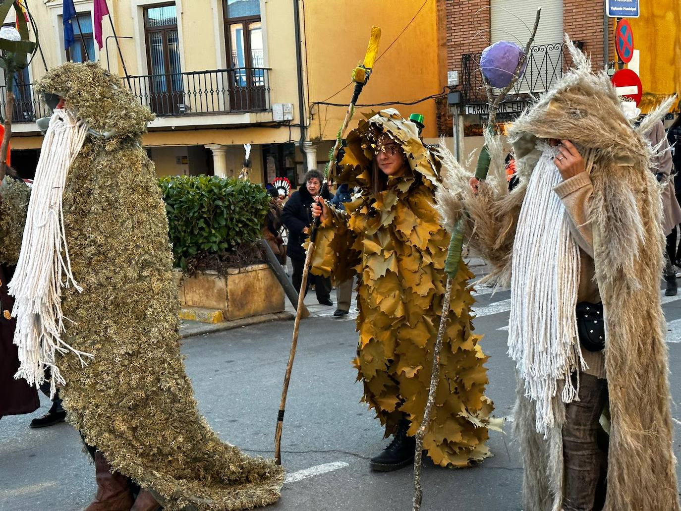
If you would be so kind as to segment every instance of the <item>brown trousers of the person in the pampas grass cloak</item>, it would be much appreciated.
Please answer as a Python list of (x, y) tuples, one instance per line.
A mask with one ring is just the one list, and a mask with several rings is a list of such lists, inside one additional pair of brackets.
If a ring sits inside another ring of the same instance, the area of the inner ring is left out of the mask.
[(599, 482), (607, 467), (607, 454), (599, 448), (599, 418), (607, 403), (607, 380), (582, 373), (580, 401), (565, 407), (563, 459), (565, 463), (564, 511), (602, 508)]

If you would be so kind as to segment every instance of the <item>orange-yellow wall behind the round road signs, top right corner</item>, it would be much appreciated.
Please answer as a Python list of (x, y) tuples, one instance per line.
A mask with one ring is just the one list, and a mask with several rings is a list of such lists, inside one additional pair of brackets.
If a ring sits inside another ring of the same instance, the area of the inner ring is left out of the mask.
[(647, 112), (664, 97), (681, 94), (681, 1), (641, 1), (640, 6), (641, 16), (629, 23), (634, 48), (641, 52), (644, 98), (640, 106)]

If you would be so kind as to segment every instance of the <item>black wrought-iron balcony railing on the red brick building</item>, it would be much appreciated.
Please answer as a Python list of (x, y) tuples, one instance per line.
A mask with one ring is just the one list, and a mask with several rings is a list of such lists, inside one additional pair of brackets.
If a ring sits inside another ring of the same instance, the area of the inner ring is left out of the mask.
[[(582, 47), (582, 42), (575, 42)], [(465, 104), (487, 102), (485, 84), (480, 74), (481, 53), (466, 53), (461, 57), (462, 92)], [(539, 44), (530, 47), (525, 72), (506, 96), (506, 102), (524, 101), (530, 96), (548, 91), (567, 70), (565, 43)], [(498, 91), (496, 91), (498, 92)]]

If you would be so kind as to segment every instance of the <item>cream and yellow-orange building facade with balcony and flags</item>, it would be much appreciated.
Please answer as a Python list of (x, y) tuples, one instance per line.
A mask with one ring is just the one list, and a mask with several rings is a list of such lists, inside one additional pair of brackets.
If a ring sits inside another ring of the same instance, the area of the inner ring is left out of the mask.
[[(352, 87), (343, 87), (372, 25), (383, 30), (385, 53), (360, 103), (383, 105), (358, 108), (358, 117), (443, 90), (437, 0), (108, 0), (101, 50), (93, 1), (74, 5), (76, 44), (67, 52), (62, 1), (27, 1), (44, 61), (38, 54), (14, 87), (20, 167), (35, 166), (42, 143), (35, 119), (49, 114), (33, 83), (67, 60), (99, 61), (156, 113), (143, 145), (159, 175), (236, 176), (251, 144), (257, 183), (287, 176), (296, 185), (308, 168), (323, 169), (345, 114), (330, 103), (349, 102)], [(438, 136), (433, 99), (394, 106), (424, 114), (424, 136)]]

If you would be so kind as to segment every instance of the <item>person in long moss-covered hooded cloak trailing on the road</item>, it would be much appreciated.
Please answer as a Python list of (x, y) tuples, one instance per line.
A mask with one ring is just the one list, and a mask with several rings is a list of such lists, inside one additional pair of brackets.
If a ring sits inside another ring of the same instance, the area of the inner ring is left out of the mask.
[[(185, 373), (165, 205), (140, 146), (153, 114), (96, 63), (55, 67), (37, 90), (61, 97), (50, 126), (76, 118), (89, 128), (62, 204), (82, 292), (63, 288), (61, 309), (70, 320), (63, 339), (93, 358), (82, 365), (73, 352), (56, 355), (68, 420), (97, 449), (97, 497), (88, 511), (272, 504), (283, 468), (222, 442), (198, 412)], [(52, 149), (44, 147), (41, 159)], [(36, 179), (33, 196), (39, 186)], [(131, 480), (142, 488), (136, 500)]]

